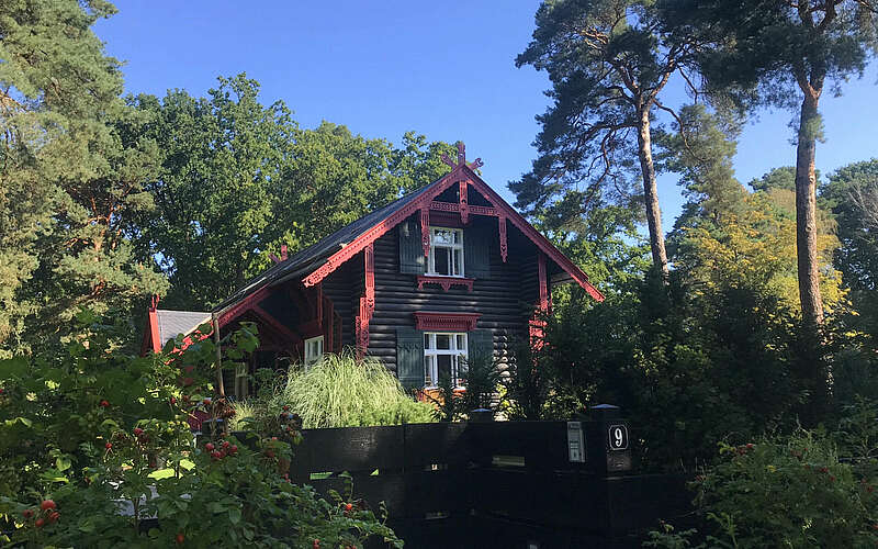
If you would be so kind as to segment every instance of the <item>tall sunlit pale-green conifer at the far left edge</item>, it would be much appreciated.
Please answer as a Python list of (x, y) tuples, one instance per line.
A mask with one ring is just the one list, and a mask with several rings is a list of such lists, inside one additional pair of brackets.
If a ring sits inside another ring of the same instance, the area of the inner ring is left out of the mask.
[(123, 317), (167, 283), (132, 246), (157, 149), (91, 31), (100, 0), (0, 7), (0, 356), (69, 337), (80, 306)]

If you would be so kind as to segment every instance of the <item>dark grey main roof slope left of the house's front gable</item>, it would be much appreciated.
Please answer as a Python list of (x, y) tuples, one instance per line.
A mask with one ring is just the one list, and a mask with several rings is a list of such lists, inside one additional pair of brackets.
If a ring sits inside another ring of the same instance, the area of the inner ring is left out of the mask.
[(243, 288), (238, 289), (227, 300), (214, 307), (214, 313), (223, 312), (246, 295), (259, 290), (267, 284), (274, 284), (285, 281), (293, 277), (304, 277), (322, 266), (326, 259), (338, 251), (344, 245), (354, 240), (358, 236), (365, 233), (382, 220), (393, 215), (394, 212), (404, 208), (413, 200), (427, 192), (432, 186), (441, 181), (442, 178), (409, 192), (390, 204), (368, 213), (353, 223), (346, 225), (335, 233), (318, 240), (316, 244), (292, 255), (285, 261), (274, 265), (258, 277), (249, 280)]

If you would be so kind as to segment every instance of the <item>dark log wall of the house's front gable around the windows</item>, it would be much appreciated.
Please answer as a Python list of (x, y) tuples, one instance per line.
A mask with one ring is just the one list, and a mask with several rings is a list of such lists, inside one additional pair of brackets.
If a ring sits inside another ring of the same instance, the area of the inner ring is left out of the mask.
[[(495, 217), (473, 216), (465, 231), (484, 231), (493, 235), (491, 277), (476, 279), (472, 292), (459, 285), (446, 292), (436, 284), (425, 284), (423, 290), (418, 290), (416, 276), (399, 272), (396, 231), (389, 232), (375, 242), (375, 314), (370, 325), (369, 354), (380, 358), (391, 370), (396, 371), (396, 328), (414, 327), (413, 313), (416, 311), (481, 313), (476, 327), (494, 333), (494, 354), (497, 358), (507, 357), (517, 340), (526, 340), (527, 317), (521, 295), (522, 291), (528, 295), (536, 292), (534, 250), (527, 249), (530, 243), (526, 244), (524, 238), (515, 244), (510, 240), (507, 262), (503, 262)], [(509, 233), (517, 231), (510, 228)], [(522, 278), (522, 260), (532, 264), (527, 269), (533, 271), (532, 277)], [(522, 284), (533, 288), (525, 291)], [(532, 304), (528, 306), (532, 310)]]

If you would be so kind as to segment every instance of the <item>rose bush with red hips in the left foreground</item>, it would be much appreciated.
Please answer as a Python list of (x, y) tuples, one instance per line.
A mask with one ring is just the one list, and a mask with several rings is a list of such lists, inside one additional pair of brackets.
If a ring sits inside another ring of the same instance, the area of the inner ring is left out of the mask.
[[(94, 317), (80, 321), (87, 325), (67, 355), (0, 361), (0, 540), (362, 547), (376, 536), (402, 547), (383, 509), (378, 517), (350, 488), (326, 501), (289, 482), (297, 429), (245, 440), (214, 434), (193, 447), (187, 417), (224, 415), (222, 400), (209, 400), (212, 339), (136, 358), (111, 351), (114, 335)], [(234, 368), (258, 345), (247, 329), (222, 341), (224, 365)], [(55, 509), (40, 508), (46, 498)]]

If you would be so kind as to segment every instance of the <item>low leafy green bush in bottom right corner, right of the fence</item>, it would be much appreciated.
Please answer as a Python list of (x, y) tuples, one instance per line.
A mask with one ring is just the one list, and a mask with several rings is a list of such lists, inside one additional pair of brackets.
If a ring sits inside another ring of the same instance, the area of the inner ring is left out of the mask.
[[(840, 461), (823, 433), (797, 432), (755, 444), (720, 446), (720, 459), (696, 479), (708, 520), (703, 544), (691, 531), (654, 533), (652, 547), (874, 547), (874, 475)], [(680, 545), (680, 538), (685, 538)]]

